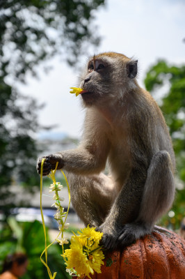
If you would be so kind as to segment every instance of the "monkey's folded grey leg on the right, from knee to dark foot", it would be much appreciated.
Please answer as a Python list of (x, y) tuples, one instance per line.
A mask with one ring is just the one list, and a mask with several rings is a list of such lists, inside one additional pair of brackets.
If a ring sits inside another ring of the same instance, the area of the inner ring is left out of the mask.
[(124, 225), (118, 238), (119, 243), (126, 246), (152, 232), (156, 220), (172, 205), (174, 195), (175, 183), (170, 154), (159, 151), (153, 156), (147, 171), (138, 218), (134, 223)]

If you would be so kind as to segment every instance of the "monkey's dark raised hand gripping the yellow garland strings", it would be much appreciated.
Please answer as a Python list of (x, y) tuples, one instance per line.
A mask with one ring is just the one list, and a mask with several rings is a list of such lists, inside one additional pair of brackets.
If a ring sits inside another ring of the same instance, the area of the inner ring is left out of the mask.
[(43, 158), (45, 158), (45, 162), (43, 164), (43, 176), (48, 175), (49, 172), (51, 172), (51, 169), (55, 169), (57, 162), (58, 162), (57, 169), (63, 168), (64, 163), (62, 157), (58, 154), (51, 154), (49, 156), (43, 156), (38, 158), (38, 163), (37, 163), (38, 174), (40, 174), (41, 171), (41, 163)]

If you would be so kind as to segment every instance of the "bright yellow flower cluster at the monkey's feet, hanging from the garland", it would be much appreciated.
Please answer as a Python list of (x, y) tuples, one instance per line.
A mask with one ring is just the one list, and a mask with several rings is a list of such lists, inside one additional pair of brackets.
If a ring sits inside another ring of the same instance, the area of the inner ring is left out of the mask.
[(101, 265), (104, 264), (104, 253), (99, 246), (102, 233), (95, 228), (86, 227), (79, 232), (79, 236), (71, 238), (70, 249), (66, 249), (63, 257), (67, 269), (74, 269), (79, 277), (88, 276), (94, 272), (101, 273)]

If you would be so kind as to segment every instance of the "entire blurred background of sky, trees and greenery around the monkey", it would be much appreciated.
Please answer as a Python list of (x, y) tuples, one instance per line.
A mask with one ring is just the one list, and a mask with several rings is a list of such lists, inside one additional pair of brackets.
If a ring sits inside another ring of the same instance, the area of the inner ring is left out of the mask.
[[(159, 225), (179, 232), (185, 216), (185, 1), (0, 0), (0, 273), (9, 253), (26, 252), (22, 278), (47, 278), (40, 262), (38, 156), (77, 146), (84, 112), (69, 93), (88, 56), (121, 52), (138, 59), (138, 83), (161, 107), (177, 159), (177, 194)], [(61, 193), (67, 209), (67, 188)], [(43, 209), (47, 240), (58, 226), (49, 178)], [(72, 206), (66, 236), (83, 224)], [(185, 224), (184, 224), (185, 229)], [(69, 278), (61, 246), (49, 248), (51, 271)]]

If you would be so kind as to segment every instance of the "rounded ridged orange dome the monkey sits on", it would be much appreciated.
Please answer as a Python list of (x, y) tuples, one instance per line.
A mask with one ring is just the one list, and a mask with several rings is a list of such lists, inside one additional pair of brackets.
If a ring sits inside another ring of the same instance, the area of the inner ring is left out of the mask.
[[(105, 254), (102, 273), (92, 279), (185, 279), (185, 241), (174, 232), (155, 227), (122, 251)], [(88, 277), (86, 277), (88, 279)]]

